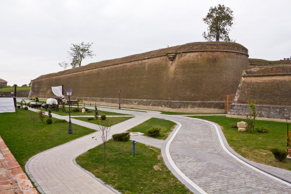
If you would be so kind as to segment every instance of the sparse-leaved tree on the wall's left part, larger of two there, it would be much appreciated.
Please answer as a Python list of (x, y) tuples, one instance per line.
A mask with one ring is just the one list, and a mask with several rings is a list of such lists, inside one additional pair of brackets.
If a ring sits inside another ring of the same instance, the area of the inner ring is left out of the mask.
[(84, 44), (82, 42), (81, 44), (71, 44), (72, 46), (70, 47), (71, 51), (68, 51), (68, 58), (71, 58), (71, 65), (73, 68), (75, 67), (80, 67), (82, 60), (84, 58), (90, 57), (92, 58), (94, 56), (93, 51), (90, 50), (90, 47), (92, 46), (93, 43), (87, 43)]

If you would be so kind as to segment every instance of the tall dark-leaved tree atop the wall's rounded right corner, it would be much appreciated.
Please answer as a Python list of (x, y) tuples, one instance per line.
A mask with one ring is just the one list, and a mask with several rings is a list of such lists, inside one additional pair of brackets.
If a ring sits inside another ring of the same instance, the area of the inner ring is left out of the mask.
[(210, 7), (209, 12), (203, 21), (208, 25), (208, 33), (204, 32), (202, 36), (208, 41), (232, 41), (229, 38), (229, 27), (232, 25), (232, 11), (224, 5)]

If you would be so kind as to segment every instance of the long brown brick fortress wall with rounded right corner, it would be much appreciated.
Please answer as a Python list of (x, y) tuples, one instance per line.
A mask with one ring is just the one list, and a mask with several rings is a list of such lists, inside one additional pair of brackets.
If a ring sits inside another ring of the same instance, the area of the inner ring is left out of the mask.
[[(69, 86), (73, 98), (102, 105), (117, 105), (120, 89), (125, 107), (222, 113), (223, 95), (235, 93), (249, 68), (247, 52), (235, 43), (188, 43), (44, 75), (31, 88), (36, 96), (51, 97), (42, 86)], [(172, 61), (168, 54), (175, 55)]]

